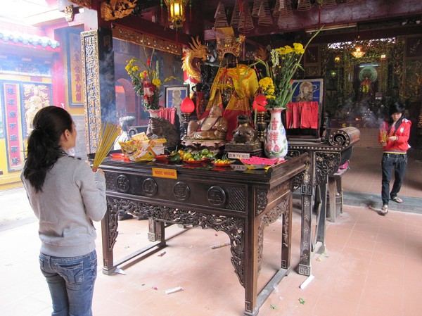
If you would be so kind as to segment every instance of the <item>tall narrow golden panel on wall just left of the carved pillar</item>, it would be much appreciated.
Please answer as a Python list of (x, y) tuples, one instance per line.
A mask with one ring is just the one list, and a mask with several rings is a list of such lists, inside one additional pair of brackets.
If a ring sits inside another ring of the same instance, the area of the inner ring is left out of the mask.
[(68, 32), (68, 95), (70, 106), (84, 105), (84, 86), (82, 82), (82, 53), (79, 32)]

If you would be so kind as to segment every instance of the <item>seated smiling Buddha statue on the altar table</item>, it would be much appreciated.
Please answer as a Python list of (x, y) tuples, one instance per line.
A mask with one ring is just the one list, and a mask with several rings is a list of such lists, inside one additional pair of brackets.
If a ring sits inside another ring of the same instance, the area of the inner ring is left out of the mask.
[(214, 140), (226, 139), (227, 120), (223, 118), (222, 108), (215, 105), (205, 118), (192, 120), (188, 124), (187, 139)]

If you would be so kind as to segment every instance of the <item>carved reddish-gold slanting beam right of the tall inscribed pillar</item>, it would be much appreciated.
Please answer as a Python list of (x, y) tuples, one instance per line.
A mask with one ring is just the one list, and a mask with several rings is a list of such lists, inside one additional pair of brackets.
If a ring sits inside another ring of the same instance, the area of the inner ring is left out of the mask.
[(129, 30), (125, 27), (115, 25), (113, 28), (113, 37), (129, 41), (134, 44), (140, 44), (150, 49), (158, 49), (159, 51), (166, 51), (174, 55), (181, 55), (181, 44), (176, 44), (165, 39), (159, 39), (149, 34), (143, 34), (134, 30)]

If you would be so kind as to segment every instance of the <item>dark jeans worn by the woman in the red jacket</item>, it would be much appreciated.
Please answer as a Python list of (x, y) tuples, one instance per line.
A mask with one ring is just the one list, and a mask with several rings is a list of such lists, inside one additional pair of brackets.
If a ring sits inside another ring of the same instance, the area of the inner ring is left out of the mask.
[[(395, 198), (402, 187), (404, 173), (407, 168), (407, 155), (384, 153), (381, 160), (381, 169), (383, 170), (383, 181), (381, 187), (381, 198), (383, 205), (388, 205), (390, 198)], [(392, 170), (394, 169), (394, 184), (390, 191), (390, 180)]]

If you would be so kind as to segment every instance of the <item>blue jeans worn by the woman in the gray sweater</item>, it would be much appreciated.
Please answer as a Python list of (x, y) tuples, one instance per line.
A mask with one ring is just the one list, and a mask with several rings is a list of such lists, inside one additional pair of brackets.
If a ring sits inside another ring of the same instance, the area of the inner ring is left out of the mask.
[(46, 277), (53, 313), (51, 316), (92, 316), (92, 296), (97, 275), (97, 255), (73, 258), (39, 254), (39, 266)]

